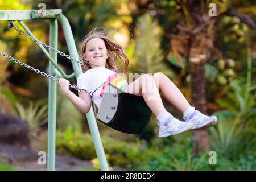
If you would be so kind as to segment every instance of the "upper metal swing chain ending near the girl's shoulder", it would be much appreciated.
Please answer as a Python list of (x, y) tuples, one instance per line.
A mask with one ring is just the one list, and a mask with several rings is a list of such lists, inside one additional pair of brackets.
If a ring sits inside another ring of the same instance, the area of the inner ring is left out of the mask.
[[(13, 21), (10, 21), (9, 27), (15, 29), (16, 31), (18, 31), (18, 32), (19, 32), (19, 35), (25, 35), (25, 36), (27, 36), (28, 38), (32, 39), (34, 42), (36, 42), (36, 43), (38, 43), (38, 44), (41, 44), (43, 47), (47, 47), (48, 49), (59, 53), (61, 56), (64, 56), (64, 57), (66, 57), (67, 59), (73, 60), (73, 61), (75, 61), (76, 63), (79, 63), (80, 65), (82, 65), (82, 61), (77, 60), (77, 59), (75, 59), (75, 58), (73, 58), (73, 57), (71, 57), (71, 56), (69, 56), (69, 55), (66, 55), (64, 52), (61, 52), (61, 51), (59, 51), (58, 49), (55, 49), (55, 48), (53, 48), (53, 47), (51, 47), (51, 46), (48, 46), (46, 43), (41, 42), (40, 40), (38, 40), (38, 39), (36, 39), (36, 38), (34, 38), (34, 37), (28, 35), (28, 34), (27, 34), (26, 32), (24, 32), (23, 30), (20, 30), (19, 28), (15, 27), (14, 24), (13, 24)], [(80, 68), (81, 68), (81, 67), (80, 67)]]

